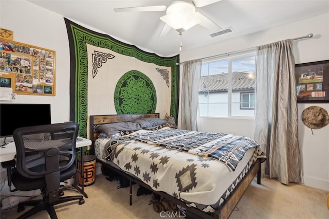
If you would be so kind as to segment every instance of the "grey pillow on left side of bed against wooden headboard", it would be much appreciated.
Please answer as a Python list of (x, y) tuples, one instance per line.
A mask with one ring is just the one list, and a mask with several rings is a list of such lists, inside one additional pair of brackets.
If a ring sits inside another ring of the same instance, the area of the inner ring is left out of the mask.
[(109, 123), (109, 124), (103, 124), (96, 127), (96, 130), (98, 132), (105, 133), (108, 137), (113, 136), (120, 131), (137, 131), (141, 130), (142, 127), (139, 123), (136, 122), (116, 122), (116, 123)]

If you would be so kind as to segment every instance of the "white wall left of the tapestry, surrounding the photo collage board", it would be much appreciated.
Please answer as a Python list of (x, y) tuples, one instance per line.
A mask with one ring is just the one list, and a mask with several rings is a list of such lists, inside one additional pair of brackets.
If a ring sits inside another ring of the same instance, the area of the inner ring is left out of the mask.
[(25, 1), (0, 2), (0, 27), (14, 41), (56, 51), (56, 96), (17, 95), (15, 103), (50, 103), (51, 122), (69, 121), (70, 55), (63, 16)]

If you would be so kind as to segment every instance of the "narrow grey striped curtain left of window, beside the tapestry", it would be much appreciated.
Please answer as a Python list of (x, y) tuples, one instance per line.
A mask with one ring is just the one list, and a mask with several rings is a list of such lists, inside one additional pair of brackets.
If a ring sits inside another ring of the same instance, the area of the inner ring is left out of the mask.
[(180, 129), (197, 130), (197, 105), (202, 60), (184, 62), (181, 93)]

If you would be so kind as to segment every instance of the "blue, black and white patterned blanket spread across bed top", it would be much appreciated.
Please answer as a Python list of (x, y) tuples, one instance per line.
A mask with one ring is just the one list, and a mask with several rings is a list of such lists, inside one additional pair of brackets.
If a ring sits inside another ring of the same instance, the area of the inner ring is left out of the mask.
[(249, 149), (259, 147), (255, 140), (244, 136), (170, 127), (144, 134), (132, 133), (129, 137), (148, 144), (211, 157), (225, 163), (232, 171)]

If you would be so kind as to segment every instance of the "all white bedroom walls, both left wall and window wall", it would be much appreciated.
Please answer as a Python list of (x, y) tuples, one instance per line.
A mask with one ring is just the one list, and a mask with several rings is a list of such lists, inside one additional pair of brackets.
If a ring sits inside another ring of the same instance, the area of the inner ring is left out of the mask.
[[(0, 1), (0, 27), (13, 30), (14, 41), (56, 51), (56, 96), (17, 95), (16, 102), (50, 103), (52, 123), (68, 121), (70, 56), (63, 16), (26, 1)], [(315, 36), (312, 39), (294, 42), (296, 63), (329, 59), (329, 14), (324, 14), (208, 47), (183, 51), (180, 54), (180, 61), (296, 38), (308, 33), (313, 33)], [(108, 34), (111, 35), (111, 33)], [(310, 105), (313, 104), (299, 104), (299, 115)], [(329, 104), (314, 105), (319, 105), (329, 112)], [(246, 136), (254, 134), (253, 120), (203, 118), (199, 120), (199, 123), (201, 131), (211, 129), (211, 131), (235, 132)], [(329, 125), (320, 130), (314, 130), (314, 135), (301, 121), (299, 128), (305, 184), (329, 190)]]

